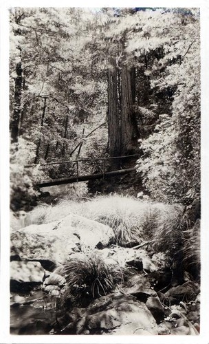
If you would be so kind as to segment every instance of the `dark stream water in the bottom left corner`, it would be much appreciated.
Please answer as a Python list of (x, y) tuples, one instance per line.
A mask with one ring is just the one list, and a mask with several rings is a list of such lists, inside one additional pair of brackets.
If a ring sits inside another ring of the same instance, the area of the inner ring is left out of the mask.
[(50, 334), (56, 323), (56, 298), (38, 291), (10, 308), (11, 334)]

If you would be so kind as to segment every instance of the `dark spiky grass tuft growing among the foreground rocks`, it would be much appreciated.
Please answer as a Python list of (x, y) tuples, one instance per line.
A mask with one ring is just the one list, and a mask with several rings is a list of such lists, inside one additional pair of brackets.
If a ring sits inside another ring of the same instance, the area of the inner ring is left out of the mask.
[(108, 294), (126, 279), (119, 265), (107, 266), (93, 250), (72, 255), (65, 264), (64, 273), (67, 285), (61, 303), (68, 306), (84, 307), (93, 299)]

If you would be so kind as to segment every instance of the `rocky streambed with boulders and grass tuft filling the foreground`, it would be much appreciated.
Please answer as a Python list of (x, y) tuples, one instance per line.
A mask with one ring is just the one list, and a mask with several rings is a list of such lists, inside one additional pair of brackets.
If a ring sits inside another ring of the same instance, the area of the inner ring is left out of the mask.
[(199, 284), (149, 242), (79, 215), (11, 233), (13, 334), (199, 334)]

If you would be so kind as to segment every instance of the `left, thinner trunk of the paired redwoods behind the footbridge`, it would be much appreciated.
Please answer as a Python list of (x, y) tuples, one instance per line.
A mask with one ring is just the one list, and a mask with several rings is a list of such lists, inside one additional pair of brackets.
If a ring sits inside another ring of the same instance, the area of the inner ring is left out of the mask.
[(109, 112), (109, 154), (120, 155), (120, 117), (118, 109), (117, 65), (113, 56), (109, 57), (108, 112)]

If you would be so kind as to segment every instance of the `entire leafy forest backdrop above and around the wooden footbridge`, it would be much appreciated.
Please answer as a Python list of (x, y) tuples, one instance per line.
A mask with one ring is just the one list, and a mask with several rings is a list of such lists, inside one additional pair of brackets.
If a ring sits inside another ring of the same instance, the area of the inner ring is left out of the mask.
[(198, 10), (14, 8), (10, 31), (14, 209), (43, 175), (74, 173), (43, 162), (129, 151), (153, 200), (199, 197)]

